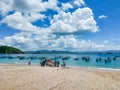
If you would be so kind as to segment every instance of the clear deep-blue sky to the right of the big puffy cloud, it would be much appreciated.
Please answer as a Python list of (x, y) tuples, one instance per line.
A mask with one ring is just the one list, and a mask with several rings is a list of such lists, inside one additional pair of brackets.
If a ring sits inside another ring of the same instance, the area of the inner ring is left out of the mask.
[[(115, 0), (85, 0), (87, 5), (93, 10), (95, 20), (100, 27), (100, 32), (95, 37), (100, 39), (119, 39), (120, 33), (120, 1)], [(99, 19), (100, 15), (106, 15), (107, 18)]]

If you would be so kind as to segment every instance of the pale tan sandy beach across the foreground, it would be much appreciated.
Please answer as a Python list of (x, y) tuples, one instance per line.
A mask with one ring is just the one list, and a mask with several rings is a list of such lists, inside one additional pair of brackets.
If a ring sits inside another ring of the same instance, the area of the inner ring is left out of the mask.
[(120, 90), (120, 71), (0, 65), (0, 90)]

